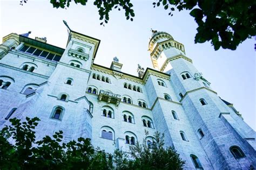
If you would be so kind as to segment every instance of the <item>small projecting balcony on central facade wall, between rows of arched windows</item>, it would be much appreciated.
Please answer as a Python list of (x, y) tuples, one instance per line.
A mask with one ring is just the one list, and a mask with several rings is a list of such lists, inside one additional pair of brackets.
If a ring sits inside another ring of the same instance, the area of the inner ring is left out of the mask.
[(118, 107), (118, 105), (121, 101), (120, 97), (121, 96), (118, 95), (118, 94), (113, 94), (109, 91), (100, 90), (99, 91), (99, 96), (98, 96), (98, 101), (113, 103), (113, 104), (116, 104), (116, 106)]

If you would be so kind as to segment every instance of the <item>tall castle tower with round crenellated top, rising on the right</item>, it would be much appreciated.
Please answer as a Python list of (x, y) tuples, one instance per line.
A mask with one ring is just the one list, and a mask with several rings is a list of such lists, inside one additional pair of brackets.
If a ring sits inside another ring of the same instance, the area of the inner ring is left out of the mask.
[[(171, 75), (171, 87), (212, 167), (255, 168), (255, 131), (210, 87), (210, 83), (185, 55), (184, 45), (169, 33), (152, 31), (149, 51), (153, 67)], [(233, 152), (234, 148), (243, 156), (238, 158)], [(176, 149), (179, 151), (179, 148)], [(190, 148), (186, 151), (190, 152), (191, 149), (197, 150)]]

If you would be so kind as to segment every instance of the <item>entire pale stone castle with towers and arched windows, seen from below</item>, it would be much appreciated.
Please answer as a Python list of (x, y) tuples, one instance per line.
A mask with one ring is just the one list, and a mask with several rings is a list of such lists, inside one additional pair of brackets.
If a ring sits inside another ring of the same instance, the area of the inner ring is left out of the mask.
[[(69, 31), (66, 48), (11, 33), (0, 45), (0, 127), (39, 117), (38, 138), (63, 130), (64, 141), (91, 138), (106, 152), (165, 134), (184, 169), (256, 168), (255, 131), (222, 100), (186, 56), (184, 45), (152, 31), (154, 69), (138, 76), (93, 63), (100, 40)], [(145, 136), (145, 130), (149, 133)]]

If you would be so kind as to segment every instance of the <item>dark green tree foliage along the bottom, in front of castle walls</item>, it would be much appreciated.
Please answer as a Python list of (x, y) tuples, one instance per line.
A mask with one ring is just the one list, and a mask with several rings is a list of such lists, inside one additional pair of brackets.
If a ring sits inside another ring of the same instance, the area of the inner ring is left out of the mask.
[(138, 143), (130, 153), (114, 154), (94, 148), (90, 139), (78, 138), (63, 143), (63, 132), (36, 140), (33, 129), (39, 118), (10, 119), (0, 131), (0, 169), (181, 169), (184, 161), (173, 148), (164, 148), (163, 137), (156, 133), (152, 146)]

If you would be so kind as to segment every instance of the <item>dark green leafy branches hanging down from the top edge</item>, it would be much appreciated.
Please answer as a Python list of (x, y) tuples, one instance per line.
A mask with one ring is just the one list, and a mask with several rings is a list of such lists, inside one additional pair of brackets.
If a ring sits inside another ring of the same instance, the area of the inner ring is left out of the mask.
[[(28, 0), (21, 0), (21, 4)], [(68, 8), (72, 0), (50, 0), (53, 8)], [(86, 5), (87, 0), (73, 0), (76, 4)], [(100, 25), (109, 22), (112, 9), (124, 9), (127, 20), (133, 21), (135, 16), (130, 0), (94, 0), (98, 8)], [(189, 10), (198, 24), (195, 43), (211, 41), (215, 50), (220, 47), (236, 49), (247, 38), (256, 36), (256, 1), (248, 0), (157, 0), (153, 7), (163, 6), (170, 10)], [(182, 20), (182, 18), (181, 18)]]

